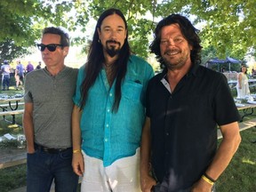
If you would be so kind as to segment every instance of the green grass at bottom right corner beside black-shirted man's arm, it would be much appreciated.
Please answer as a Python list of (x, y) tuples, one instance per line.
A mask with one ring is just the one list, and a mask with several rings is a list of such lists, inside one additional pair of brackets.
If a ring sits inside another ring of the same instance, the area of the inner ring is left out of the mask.
[(256, 128), (241, 132), (242, 142), (225, 172), (216, 182), (220, 192), (256, 191)]

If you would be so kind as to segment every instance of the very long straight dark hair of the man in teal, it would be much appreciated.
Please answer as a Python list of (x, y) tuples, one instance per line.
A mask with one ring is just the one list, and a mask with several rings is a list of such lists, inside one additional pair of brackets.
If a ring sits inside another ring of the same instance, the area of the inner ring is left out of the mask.
[(100, 29), (102, 21), (107, 18), (109, 15), (117, 14), (119, 15), (122, 20), (124, 20), (125, 29), (127, 30), (126, 38), (124, 40), (124, 45), (121, 48), (120, 52), (118, 53), (118, 59), (115, 62), (116, 68), (116, 88), (115, 88), (115, 101), (112, 107), (112, 111), (117, 112), (119, 108), (119, 103), (121, 100), (121, 84), (123, 83), (124, 76), (127, 70), (127, 63), (129, 57), (131, 55), (130, 46), (128, 44), (128, 29), (127, 29), (127, 22), (124, 18), (124, 14), (114, 8), (108, 9), (107, 11), (103, 12), (100, 15), (99, 20), (97, 21), (97, 25), (94, 31), (92, 44), (89, 49), (88, 53), (88, 60), (85, 64), (84, 73), (85, 78), (80, 88), (82, 94), (82, 100), (80, 102), (80, 108), (83, 109), (86, 103), (88, 92), (92, 85), (95, 83), (97, 76), (99, 76), (100, 69), (102, 68), (102, 63), (104, 62), (104, 54), (102, 44), (99, 42), (99, 34), (97, 28)]

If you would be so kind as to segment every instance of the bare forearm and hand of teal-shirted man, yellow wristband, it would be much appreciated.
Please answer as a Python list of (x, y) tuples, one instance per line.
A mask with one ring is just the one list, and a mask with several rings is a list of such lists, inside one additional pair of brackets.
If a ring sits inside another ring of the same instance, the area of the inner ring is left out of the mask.
[(72, 112), (72, 142), (73, 142), (73, 159), (72, 166), (77, 175), (83, 176), (84, 174), (84, 158), (81, 153), (81, 129), (80, 119), (82, 111), (74, 105)]

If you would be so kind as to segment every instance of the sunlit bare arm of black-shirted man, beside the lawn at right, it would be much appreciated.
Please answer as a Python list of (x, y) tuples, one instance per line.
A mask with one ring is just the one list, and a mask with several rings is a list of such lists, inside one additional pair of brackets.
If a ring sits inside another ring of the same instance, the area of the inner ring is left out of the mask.
[[(220, 147), (213, 158), (212, 164), (210, 164), (205, 171), (206, 175), (211, 177), (212, 180), (217, 180), (220, 177), (220, 174), (225, 171), (241, 142), (239, 125), (237, 122), (220, 126), (220, 131), (223, 139), (220, 142)], [(203, 188), (205, 190), (202, 190)], [(196, 182), (192, 191), (211, 191), (211, 188), (212, 186), (201, 178)]]

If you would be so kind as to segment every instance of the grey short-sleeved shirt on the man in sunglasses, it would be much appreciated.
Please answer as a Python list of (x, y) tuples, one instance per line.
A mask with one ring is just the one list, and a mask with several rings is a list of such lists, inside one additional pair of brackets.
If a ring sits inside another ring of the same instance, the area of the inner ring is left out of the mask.
[(46, 68), (25, 78), (26, 103), (33, 103), (35, 142), (48, 148), (69, 148), (71, 142), (72, 96), (76, 89), (76, 68), (63, 68), (52, 76)]

